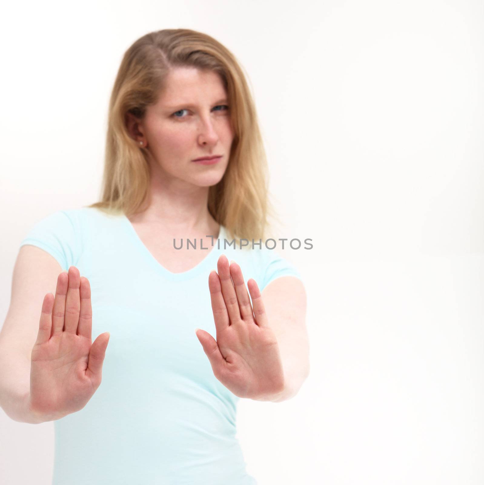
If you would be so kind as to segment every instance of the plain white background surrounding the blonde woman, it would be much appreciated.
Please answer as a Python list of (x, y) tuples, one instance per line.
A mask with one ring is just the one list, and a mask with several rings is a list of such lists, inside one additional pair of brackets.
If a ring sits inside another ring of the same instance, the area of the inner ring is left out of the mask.
[[(249, 77), (282, 234), (314, 244), (283, 252), (305, 279), (311, 375), (289, 401), (239, 403), (248, 472), (260, 485), (483, 484), (481, 1), (2, 12), (0, 324), (27, 231), (98, 200), (125, 50), (199, 30)], [(49, 485), (52, 460), (52, 422), (0, 410), (3, 485)]]

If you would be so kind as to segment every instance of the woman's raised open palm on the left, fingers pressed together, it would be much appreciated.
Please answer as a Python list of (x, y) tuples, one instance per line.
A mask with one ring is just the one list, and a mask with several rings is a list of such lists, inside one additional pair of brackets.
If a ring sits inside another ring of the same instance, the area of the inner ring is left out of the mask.
[(44, 296), (31, 354), (31, 412), (45, 421), (82, 409), (101, 384), (109, 333), (92, 342), (89, 280), (75, 266), (57, 277), (55, 297)]

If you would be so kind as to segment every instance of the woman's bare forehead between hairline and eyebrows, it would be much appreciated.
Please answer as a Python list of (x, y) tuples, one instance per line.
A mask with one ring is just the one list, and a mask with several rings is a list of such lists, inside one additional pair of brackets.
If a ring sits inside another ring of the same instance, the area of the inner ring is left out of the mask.
[(223, 81), (217, 72), (196, 67), (175, 67), (165, 79), (158, 104), (209, 103), (226, 95)]

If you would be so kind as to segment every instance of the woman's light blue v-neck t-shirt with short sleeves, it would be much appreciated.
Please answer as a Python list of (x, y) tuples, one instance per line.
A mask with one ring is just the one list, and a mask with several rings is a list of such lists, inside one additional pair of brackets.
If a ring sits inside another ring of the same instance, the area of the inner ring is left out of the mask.
[(22, 240), (89, 279), (92, 339), (110, 333), (101, 385), (54, 421), (53, 485), (256, 484), (236, 438), (240, 398), (214, 376), (195, 328), (217, 338), (208, 275), (221, 254), (261, 291), (301, 276), (264, 244), (241, 250), (224, 239), (220, 226), (219, 244), (183, 273), (160, 265), (124, 215), (94, 208), (54, 212)]

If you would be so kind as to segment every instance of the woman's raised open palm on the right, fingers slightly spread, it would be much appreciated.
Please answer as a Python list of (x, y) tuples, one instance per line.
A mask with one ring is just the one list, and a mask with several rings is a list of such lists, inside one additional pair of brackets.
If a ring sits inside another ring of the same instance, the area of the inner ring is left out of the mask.
[(251, 305), (240, 266), (222, 255), (217, 267), (208, 277), (217, 340), (198, 329), (203, 351), (215, 377), (236, 396), (275, 399), (284, 389), (284, 373), (259, 287), (254, 279), (247, 282)]

